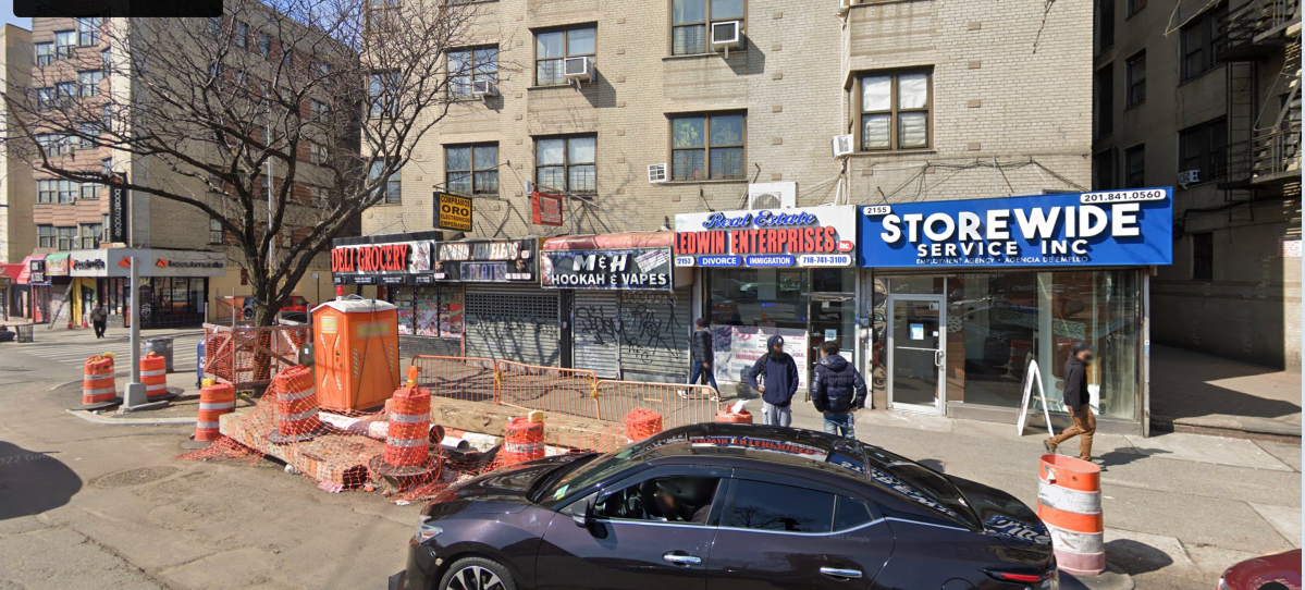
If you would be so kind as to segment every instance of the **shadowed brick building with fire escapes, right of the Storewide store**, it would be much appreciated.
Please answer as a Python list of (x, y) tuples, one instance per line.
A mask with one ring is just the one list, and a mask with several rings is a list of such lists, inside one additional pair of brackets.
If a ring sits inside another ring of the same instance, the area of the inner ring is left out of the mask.
[(1095, 4), (1094, 189), (1177, 187), (1152, 337), (1298, 371), (1300, 3)]

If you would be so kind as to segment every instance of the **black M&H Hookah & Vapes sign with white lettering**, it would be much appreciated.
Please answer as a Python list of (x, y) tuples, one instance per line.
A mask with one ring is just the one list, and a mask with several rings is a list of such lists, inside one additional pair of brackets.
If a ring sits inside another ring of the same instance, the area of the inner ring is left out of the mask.
[(544, 251), (544, 288), (672, 288), (669, 248)]

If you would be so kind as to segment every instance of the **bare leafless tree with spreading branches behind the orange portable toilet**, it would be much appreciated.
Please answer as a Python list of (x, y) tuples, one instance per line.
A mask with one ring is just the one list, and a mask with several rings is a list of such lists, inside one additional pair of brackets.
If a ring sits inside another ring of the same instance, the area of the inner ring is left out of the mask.
[[(117, 181), (217, 219), (254, 322), (270, 325), (459, 99), (445, 54), (471, 44), (475, 7), (227, 0), (222, 18), (110, 20), (91, 64), (106, 81), (57, 84), (85, 56), (37, 68), (26, 93), (4, 95), (0, 142), (42, 175)], [(128, 162), (145, 174), (116, 175)]]

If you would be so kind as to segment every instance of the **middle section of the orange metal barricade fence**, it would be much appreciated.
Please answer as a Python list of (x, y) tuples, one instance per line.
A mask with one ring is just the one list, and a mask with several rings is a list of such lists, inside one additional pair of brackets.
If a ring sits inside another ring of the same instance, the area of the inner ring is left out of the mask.
[(499, 362), (499, 403), (599, 420), (619, 420), (599, 411), (592, 371)]

